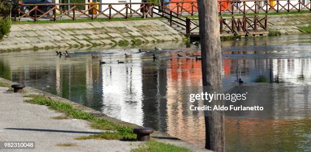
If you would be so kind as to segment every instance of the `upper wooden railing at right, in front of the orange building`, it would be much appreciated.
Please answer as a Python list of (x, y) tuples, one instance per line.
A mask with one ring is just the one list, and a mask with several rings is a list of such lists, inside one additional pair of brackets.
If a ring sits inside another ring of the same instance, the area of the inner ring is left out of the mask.
[[(269, 12), (292, 12), (292, 11), (311, 11), (311, 0), (303, 3), (301, 0), (220, 0), (218, 1), (217, 11), (219, 14), (246, 14), (246, 13), (269, 13)], [(192, 2), (164, 2), (162, 7), (172, 10), (181, 15), (197, 15), (198, 4)]]

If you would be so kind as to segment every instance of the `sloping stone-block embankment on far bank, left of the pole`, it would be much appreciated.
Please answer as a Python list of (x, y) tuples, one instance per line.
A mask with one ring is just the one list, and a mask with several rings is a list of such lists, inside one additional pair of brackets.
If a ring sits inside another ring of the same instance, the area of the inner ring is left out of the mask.
[(161, 20), (14, 24), (0, 50), (155, 43), (183, 40)]

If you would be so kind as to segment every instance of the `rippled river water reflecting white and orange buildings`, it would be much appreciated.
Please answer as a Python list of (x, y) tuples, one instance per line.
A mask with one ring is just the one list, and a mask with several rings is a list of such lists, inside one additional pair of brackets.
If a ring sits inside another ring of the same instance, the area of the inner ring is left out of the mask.
[[(71, 49), (68, 58), (56, 56), (55, 49), (1, 53), (0, 77), (204, 146), (204, 117), (185, 114), (188, 88), (202, 85), (201, 63), (176, 57), (200, 54), (200, 49), (183, 44), (158, 44), (161, 51), (153, 47), (141, 46), (143, 53), (138, 48)], [(225, 41), (222, 50), (224, 90), (237, 87), (241, 78), (244, 85), (258, 88), (260, 103), (269, 105), (264, 117), (226, 117), (226, 149), (310, 150), (311, 35)], [(153, 60), (152, 54), (160, 58)], [(106, 64), (100, 66), (100, 59)]]

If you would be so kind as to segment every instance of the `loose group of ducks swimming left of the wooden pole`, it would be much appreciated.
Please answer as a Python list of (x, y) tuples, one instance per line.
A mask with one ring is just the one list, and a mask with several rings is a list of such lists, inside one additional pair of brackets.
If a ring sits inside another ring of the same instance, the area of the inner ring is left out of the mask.
[[(154, 50), (155, 50), (155, 51), (159, 51), (159, 50), (163, 50), (163, 49), (162, 49), (162, 48), (157, 48), (157, 47), (155, 47)], [(139, 49), (137, 53), (142, 53), (142, 52), (143, 52), (143, 51), (142, 51), (141, 49)], [(72, 57), (71, 55), (69, 55), (69, 53), (74, 53), (74, 52), (65, 51), (65, 53), (61, 53), (60, 51), (59, 51), (59, 52), (56, 51), (56, 55), (59, 56), (59, 57), (61, 57), (62, 55), (64, 55), (66, 58), (67, 58), (67, 57)], [(127, 54), (127, 53), (125, 53), (124, 55), (125, 55), (126, 58), (127, 58), (127, 57), (132, 57), (132, 54)], [(177, 54), (177, 57), (195, 57), (196, 60), (202, 60), (202, 58), (201, 58), (200, 56), (201, 56), (201, 55), (195, 55), (195, 54), (193, 54), (193, 53), (185, 53), (185, 55)], [(91, 54), (91, 57), (92, 57), (92, 58), (99, 58), (99, 56), (93, 55), (93, 54)], [(159, 58), (160, 58), (160, 56), (155, 56), (155, 54), (152, 54), (152, 59), (153, 59), (153, 60), (159, 59)], [(120, 60), (117, 60), (117, 63), (118, 63), (118, 64), (124, 64), (125, 62), (122, 62), (122, 61), (120, 61)], [(103, 65), (103, 64), (106, 64), (106, 62), (103, 62), (102, 60), (99, 60), (99, 64), (100, 64), (100, 65)]]

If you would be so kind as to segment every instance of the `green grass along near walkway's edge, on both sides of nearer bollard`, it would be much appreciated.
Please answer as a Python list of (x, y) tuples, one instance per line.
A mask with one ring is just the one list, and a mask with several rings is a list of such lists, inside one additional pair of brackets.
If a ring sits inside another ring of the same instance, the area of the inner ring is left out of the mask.
[[(105, 130), (97, 135), (81, 136), (74, 138), (76, 140), (84, 139), (106, 139), (106, 140), (136, 140), (136, 134), (133, 133), (133, 129), (127, 126), (120, 126), (113, 124), (106, 119), (96, 117), (95, 115), (83, 112), (81, 110), (74, 109), (70, 104), (63, 103), (60, 101), (50, 100), (44, 96), (27, 96), (32, 99), (26, 100), (27, 103), (46, 105), (52, 110), (62, 112), (66, 114), (66, 117), (84, 119), (91, 122), (91, 127)], [(142, 143), (137, 149), (133, 151), (190, 151), (189, 149), (174, 146), (167, 143), (148, 141)]]

